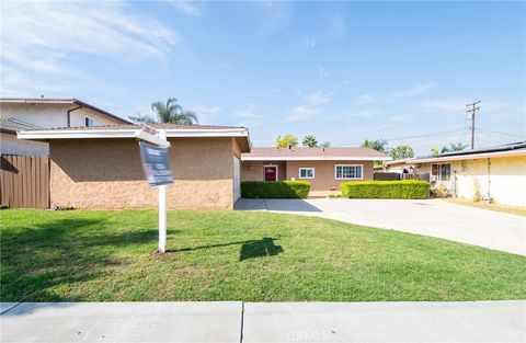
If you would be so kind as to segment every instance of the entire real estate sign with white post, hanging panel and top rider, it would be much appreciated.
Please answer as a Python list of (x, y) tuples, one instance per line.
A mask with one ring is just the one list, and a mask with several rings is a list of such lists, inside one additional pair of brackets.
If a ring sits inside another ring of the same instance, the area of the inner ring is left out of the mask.
[(173, 182), (165, 151), (170, 142), (167, 140), (165, 130), (157, 130), (146, 125), (136, 133), (136, 137), (162, 148), (140, 144), (148, 182), (159, 187), (159, 252), (164, 253), (167, 251), (167, 184)]

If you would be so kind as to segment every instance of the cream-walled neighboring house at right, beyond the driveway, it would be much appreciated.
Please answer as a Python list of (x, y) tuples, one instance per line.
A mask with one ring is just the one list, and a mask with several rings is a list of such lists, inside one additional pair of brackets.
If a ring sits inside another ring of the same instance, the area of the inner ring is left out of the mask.
[(388, 172), (411, 167), (453, 196), (526, 206), (526, 141), (385, 162)]

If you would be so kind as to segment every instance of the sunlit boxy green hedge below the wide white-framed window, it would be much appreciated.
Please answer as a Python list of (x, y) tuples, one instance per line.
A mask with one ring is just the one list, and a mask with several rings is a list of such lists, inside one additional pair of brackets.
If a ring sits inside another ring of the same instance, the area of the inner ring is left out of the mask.
[(428, 198), (430, 183), (421, 180), (353, 181), (340, 184), (344, 197)]

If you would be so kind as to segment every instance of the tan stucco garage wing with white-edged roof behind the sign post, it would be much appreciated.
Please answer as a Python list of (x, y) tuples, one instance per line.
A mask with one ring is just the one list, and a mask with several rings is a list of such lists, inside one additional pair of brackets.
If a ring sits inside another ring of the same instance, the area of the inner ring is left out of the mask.
[[(174, 182), (169, 208), (232, 209), (240, 197), (241, 153), (250, 150), (243, 127), (157, 124), (171, 142)], [(19, 139), (49, 144), (50, 206), (156, 207), (146, 181), (136, 133), (140, 125), (32, 129)]]

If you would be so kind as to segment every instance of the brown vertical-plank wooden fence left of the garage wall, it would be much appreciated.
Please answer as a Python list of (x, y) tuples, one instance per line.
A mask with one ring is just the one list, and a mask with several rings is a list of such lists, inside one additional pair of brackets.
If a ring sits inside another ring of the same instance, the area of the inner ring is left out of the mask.
[(2, 155), (0, 204), (49, 208), (49, 157)]

